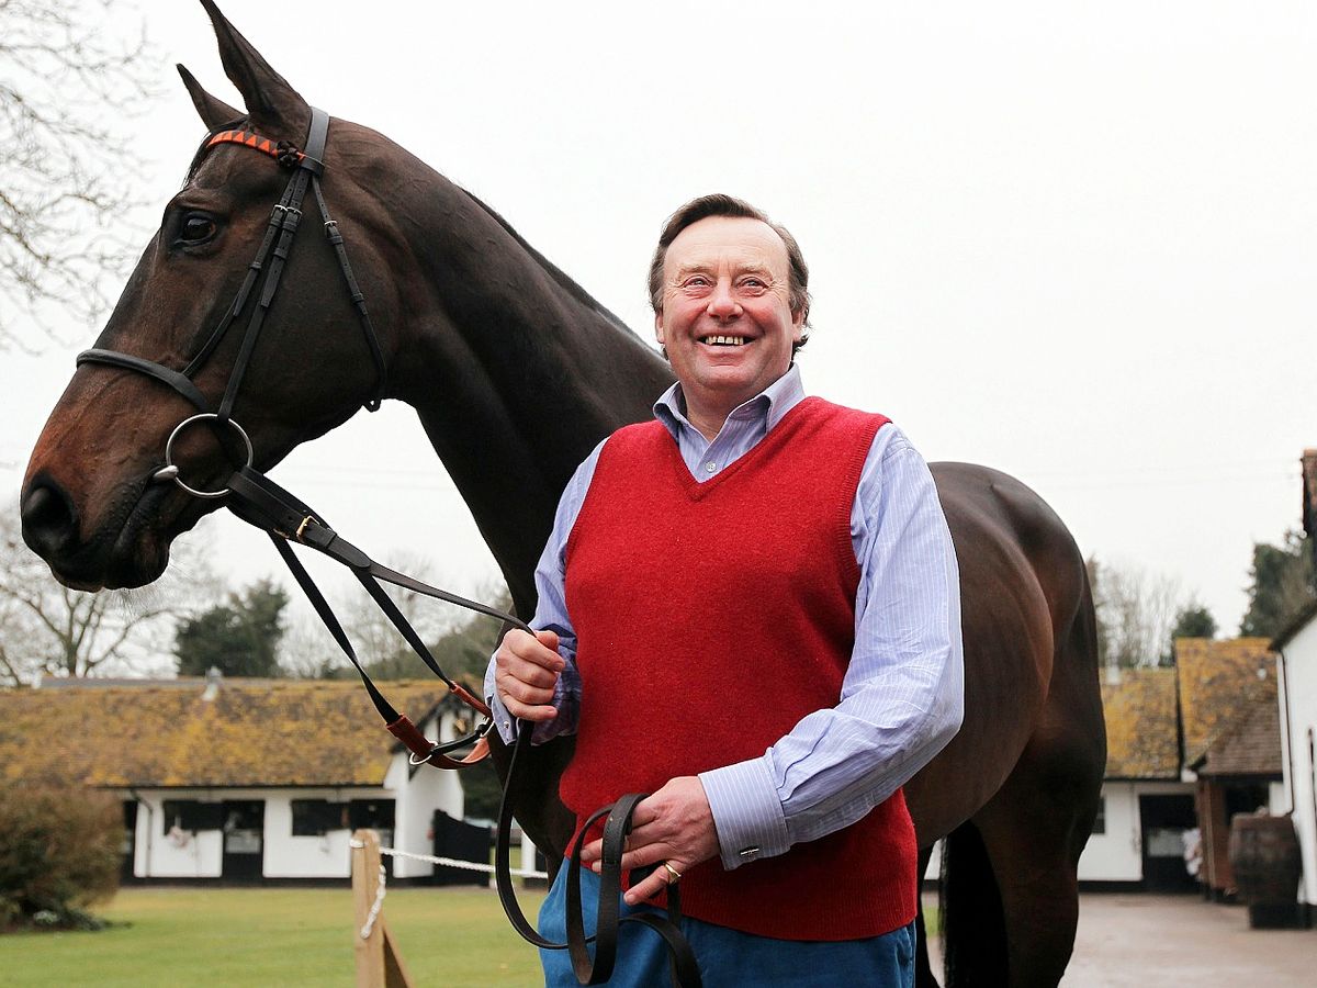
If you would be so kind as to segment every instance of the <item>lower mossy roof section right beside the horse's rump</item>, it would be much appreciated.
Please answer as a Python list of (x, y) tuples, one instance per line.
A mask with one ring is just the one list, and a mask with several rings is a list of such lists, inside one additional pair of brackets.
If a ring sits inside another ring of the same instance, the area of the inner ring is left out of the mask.
[(1179, 779), (1175, 669), (1121, 669), (1102, 682), (1108, 779)]

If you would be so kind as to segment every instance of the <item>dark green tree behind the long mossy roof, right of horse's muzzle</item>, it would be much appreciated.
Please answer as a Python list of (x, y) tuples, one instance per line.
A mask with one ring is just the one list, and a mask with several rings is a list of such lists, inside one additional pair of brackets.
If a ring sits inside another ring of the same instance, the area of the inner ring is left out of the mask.
[(252, 584), (228, 603), (179, 624), (174, 642), (179, 676), (279, 676), (279, 639), (288, 594), (270, 580)]

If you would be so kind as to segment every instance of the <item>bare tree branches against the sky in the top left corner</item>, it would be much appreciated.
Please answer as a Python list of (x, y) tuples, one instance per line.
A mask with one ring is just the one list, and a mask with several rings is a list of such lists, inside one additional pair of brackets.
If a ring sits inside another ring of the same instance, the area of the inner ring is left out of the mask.
[(0, 0), (0, 349), (32, 349), (55, 311), (95, 323), (126, 274), (138, 167), (124, 121), (159, 72), (145, 38), (117, 30), (124, 7)]

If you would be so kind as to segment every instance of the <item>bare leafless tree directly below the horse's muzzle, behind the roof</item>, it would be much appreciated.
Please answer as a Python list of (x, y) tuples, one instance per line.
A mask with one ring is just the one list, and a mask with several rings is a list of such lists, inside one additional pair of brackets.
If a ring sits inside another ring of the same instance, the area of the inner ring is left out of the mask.
[(174, 555), (170, 574), (149, 588), (70, 590), (22, 543), (17, 514), (0, 515), (0, 685), (173, 673), (175, 619), (219, 593), (196, 536), (175, 540)]

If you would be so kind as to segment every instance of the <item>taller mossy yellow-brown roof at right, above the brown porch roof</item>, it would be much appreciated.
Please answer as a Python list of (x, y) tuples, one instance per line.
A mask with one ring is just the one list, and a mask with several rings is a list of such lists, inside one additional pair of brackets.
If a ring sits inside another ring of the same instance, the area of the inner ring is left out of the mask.
[[(1276, 707), (1276, 656), (1266, 638), (1180, 638), (1175, 664), (1184, 722), (1184, 763), (1196, 764), (1214, 742), (1254, 710)], [(1276, 732), (1276, 760), (1280, 734)]]

